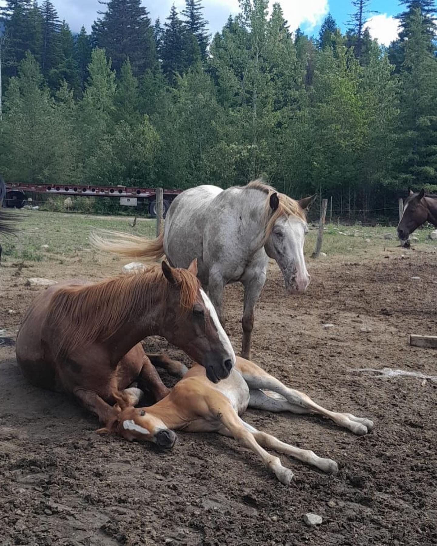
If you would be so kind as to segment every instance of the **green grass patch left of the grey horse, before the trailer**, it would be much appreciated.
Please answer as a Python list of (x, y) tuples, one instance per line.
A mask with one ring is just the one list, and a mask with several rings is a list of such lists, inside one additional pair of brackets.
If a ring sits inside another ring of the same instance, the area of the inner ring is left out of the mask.
[[(23, 218), (17, 223), (17, 237), (2, 236), (4, 256), (17, 262), (42, 262), (90, 249), (89, 236), (95, 229), (112, 229), (147, 237), (156, 235), (155, 220), (138, 219), (132, 228), (129, 225), (132, 219), (120, 216), (30, 210), (17, 211), (17, 215)], [(48, 245), (48, 248), (43, 248), (43, 245)]]

